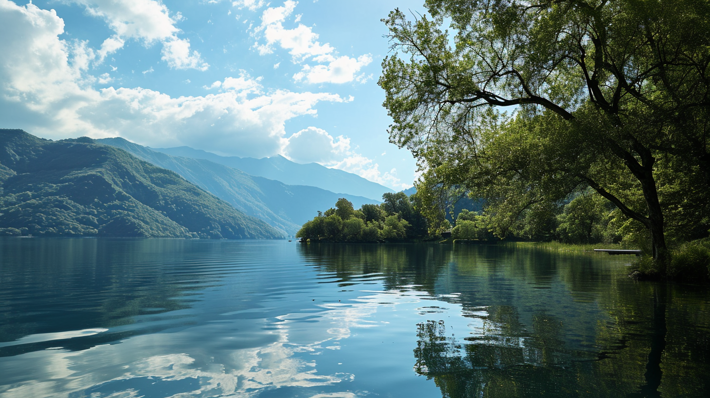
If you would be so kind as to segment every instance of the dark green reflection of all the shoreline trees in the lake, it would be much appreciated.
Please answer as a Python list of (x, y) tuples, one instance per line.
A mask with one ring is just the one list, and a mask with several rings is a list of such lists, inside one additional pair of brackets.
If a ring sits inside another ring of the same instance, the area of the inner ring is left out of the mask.
[(339, 284), (380, 274), (385, 289), (455, 301), (482, 324), (463, 336), (438, 319), (417, 325), (414, 370), (443, 397), (710, 396), (707, 286), (634, 282), (623, 263), (594, 254), (426, 244), (301, 250)]

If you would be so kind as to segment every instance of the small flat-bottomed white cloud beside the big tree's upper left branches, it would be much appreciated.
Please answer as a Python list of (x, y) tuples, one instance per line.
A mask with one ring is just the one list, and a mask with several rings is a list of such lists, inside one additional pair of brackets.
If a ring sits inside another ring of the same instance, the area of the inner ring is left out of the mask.
[(311, 84), (346, 83), (353, 80), (365, 82), (366, 78), (356, 76), (356, 73), (372, 62), (372, 56), (369, 54), (360, 55), (358, 58), (350, 58), (347, 55), (338, 58), (321, 55), (314, 59), (327, 60), (329, 63), (328, 65), (304, 65), (300, 72), (293, 75), (293, 80), (305, 80)]

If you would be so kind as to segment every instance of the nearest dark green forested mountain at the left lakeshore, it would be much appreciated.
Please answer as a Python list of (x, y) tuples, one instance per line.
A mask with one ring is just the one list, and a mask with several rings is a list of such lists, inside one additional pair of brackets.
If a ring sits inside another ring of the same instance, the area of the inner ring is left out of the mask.
[(87, 137), (0, 129), (0, 234), (283, 237), (173, 171)]

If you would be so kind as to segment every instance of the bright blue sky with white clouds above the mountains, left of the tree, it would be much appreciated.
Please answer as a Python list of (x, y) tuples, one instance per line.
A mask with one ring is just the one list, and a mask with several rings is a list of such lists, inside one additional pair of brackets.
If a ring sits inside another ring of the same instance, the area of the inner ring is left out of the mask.
[(281, 154), (415, 179), (376, 84), (380, 21), (423, 0), (0, 0), (0, 127)]

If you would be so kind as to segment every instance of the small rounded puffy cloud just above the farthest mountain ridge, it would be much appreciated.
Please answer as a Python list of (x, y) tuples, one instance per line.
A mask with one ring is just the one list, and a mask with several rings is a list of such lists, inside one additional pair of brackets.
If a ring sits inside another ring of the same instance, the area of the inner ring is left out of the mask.
[(308, 127), (285, 139), (283, 152), (297, 163), (332, 163), (346, 156), (349, 149), (350, 139)]

